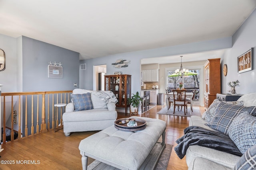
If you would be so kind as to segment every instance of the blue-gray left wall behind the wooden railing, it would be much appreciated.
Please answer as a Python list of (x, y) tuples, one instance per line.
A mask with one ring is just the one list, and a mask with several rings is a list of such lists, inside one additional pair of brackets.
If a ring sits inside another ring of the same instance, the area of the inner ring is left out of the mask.
[[(79, 87), (79, 53), (77, 52), (24, 36), (13, 38), (1, 34), (0, 48), (6, 53), (6, 69), (0, 72), (0, 84), (4, 85), (2, 92), (73, 90)], [(62, 79), (48, 78), (50, 61), (62, 64)], [(78, 86), (74, 87), (74, 83)], [(14, 109), (16, 106), (15, 100)], [(39, 107), (41, 110), (41, 106)], [(23, 124), (24, 120), (23, 115), (21, 118)], [(28, 122), (31, 122), (31, 117), (28, 117)], [(10, 127), (10, 119), (6, 126)], [(29, 132), (30, 127), (28, 126)]]

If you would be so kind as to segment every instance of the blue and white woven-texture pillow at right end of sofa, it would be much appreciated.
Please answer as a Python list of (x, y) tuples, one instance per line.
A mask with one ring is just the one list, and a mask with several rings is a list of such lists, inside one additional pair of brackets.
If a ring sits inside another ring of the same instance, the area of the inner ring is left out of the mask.
[(256, 117), (246, 111), (239, 114), (228, 129), (228, 136), (241, 153), (256, 145)]

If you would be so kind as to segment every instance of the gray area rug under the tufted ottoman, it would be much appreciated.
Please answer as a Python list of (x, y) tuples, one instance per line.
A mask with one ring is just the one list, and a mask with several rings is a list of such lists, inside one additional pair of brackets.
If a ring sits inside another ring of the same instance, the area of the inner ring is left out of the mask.
[[(151, 159), (156, 159), (157, 157), (157, 152), (159, 152), (159, 148), (161, 143), (156, 143), (155, 147), (151, 150), (150, 159), (149, 160), (145, 160), (145, 162), (152, 162)], [(169, 145), (166, 144), (166, 147), (164, 149), (164, 151), (162, 152), (162, 155), (158, 161), (158, 164), (156, 166), (155, 170), (166, 170), (167, 166), (168, 166), (168, 162), (171, 156), (171, 152), (172, 152), (172, 147), (173, 145)], [(140, 168), (139, 170), (149, 170), (148, 166), (145, 166), (144, 164), (142, 164), (143, 168)], [(152, 168), (152, 167), (150, 167)], [(98, 160), (94, 160), (94, 162), (92, 162), (90, 165), (87, 166), (87, 170), (103, 170), (103, 169), (109, 169), (109, 170), (119, 170), (118, 168), (115, 168), (113, 166), (110, 166), (108, 164), (104, 164)]]

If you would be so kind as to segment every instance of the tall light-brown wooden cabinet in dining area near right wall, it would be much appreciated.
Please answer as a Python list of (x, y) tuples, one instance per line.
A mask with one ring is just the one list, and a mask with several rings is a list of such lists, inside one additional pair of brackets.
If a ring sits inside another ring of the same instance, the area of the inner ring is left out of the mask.
[(208, 107), (216, 99), (216, 94), (220, 93), (220, 58), (208, 59), (204, 64), (205, 71), (205, 92), (204, 92), (204, 107)]

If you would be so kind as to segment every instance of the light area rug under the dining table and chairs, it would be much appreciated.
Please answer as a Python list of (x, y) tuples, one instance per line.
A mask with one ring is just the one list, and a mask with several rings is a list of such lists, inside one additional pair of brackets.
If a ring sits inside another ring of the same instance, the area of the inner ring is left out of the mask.
[[(199, 107), (193, 107), (193, 111), (191, 111), (191, 114), (190, 114), (190, 107), (188, 107), (188, 113), (186, 113), (186, 115), (184, 115), (184, 108), (182, 108), (181, 111), (178, 111), (178, 108), (176, 108), (175, 109), (175, 113), (173, 114), (173, 108), (174, 107), (170, 107), (170, 109), (167, 111), (166, 107), (164, 107), (163, 109), (161, 109), (157, 113), (158, 114), (164, 114), (164, 115), (187, 116), (187, 117), (190, 117), (192, 115), (196, 115), (196, 116), (200, 116), (201, 117), (201, 113), (200, 113)], [(167, 111), (167, 113), (166, 113), (166, 111)]]

